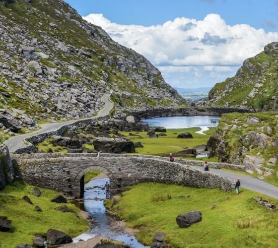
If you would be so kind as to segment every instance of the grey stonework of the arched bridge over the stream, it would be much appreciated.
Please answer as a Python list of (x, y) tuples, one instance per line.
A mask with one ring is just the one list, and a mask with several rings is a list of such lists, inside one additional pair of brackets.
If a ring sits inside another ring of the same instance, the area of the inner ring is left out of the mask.
[(92, 170), (110, 178), (111, 195), (142, 182), (170, 183), (230, 191), (232, 182), (220, 175), (168, 162), (155, 156), (103, 154), (11, 154), (15, 175), (34, 186), (62, 191), (79, 198), (83, 194), (84, 174)]

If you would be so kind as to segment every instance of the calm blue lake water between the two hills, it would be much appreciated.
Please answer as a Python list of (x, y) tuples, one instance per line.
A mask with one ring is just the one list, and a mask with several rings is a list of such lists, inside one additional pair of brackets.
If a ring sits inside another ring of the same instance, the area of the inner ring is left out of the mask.
[[(188, 128), (200, 127), (201, 130), (197, 133), (205, 134), (204, 131), (209, 130), (209, 127), (218, 125), (219, 116), (178, 116), (178, 117), (160, 117), (145, 119), (144, 124), (149, 124), (151, 127), (165, 128)], [(216, 121), (216, 123), (212, 123)]]

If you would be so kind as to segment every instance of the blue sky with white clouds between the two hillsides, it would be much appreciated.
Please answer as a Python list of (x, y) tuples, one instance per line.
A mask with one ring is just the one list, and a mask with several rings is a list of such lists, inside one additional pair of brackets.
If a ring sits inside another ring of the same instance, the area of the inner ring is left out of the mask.
[[(278, 41), (278, 0), (66, 0), (172, 86), (209, 87)], [(245, 25), (240, 25), (245, 24)]]

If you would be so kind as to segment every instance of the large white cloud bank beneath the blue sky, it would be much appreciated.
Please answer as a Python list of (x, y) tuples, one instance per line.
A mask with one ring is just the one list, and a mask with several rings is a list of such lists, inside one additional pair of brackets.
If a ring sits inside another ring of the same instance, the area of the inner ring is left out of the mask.
[[(197, 70), (192, 77), (197, 79), (209, 76), (211, 72), (215, 80), (219, 79), (216, 74), (230, 76), (245, 59), (260, 53), (268, 43), (278, 40), (278, 32), (266, 33), (263, 29), (246, 24), (230, 26), (218, 14), (208, 14), (204, 20), (181, 17), (148, 27), (120, 25), (103, 14), (92, 13), (83, 18), (101, 26), (115, 41), (145, 56), (159, 66), (162, 74), (169, 74), (171, 70), (176, 73), (178, 70), (185, 75), (189, 70), (193, 73), (194, 66), (204, 66), (202, 70), (195, 68)], [(163, 66), (165, 64), (168, 67)], [(189, 66), (193, 66), (193, 69)], [(177, 80), (174, 81), (176, 84)]]

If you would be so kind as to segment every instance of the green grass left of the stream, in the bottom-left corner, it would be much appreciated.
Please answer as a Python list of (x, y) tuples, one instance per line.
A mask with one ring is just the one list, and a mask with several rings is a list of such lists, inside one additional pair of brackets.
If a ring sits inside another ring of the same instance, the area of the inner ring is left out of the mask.
[[(15, 182), (0, 191), (0, 215), (7, 216), (12, 221), (12, 232), (0, 232), (0, 247), (12, 248), (19, 244), (32, 244), (35, 235), (45, 236), (50, 228), (60, 230), (71, 237), (78, 236), (88, 230), (88, 223), (79, 215), (79, 209), (72, 203), (66, 205), (75, 213), (63, 213), (55, 210), (58, 204), (50, 200), (58, 194), (57, 191), (40, 188), (42, 195), (34, 196), (33, 186)], [(31, 205), (22, 200), (27, 195), (34, 203)], [(34, 211), (38, 205), (43, 212)], [(77, 214), (77, 216), (76, 216)]]

